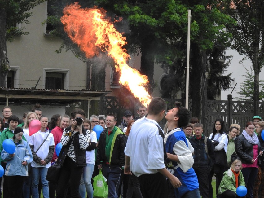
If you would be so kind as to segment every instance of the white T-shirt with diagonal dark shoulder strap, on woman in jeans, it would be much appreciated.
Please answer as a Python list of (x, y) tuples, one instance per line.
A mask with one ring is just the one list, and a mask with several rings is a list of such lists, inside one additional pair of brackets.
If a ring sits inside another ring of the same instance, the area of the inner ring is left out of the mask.
[[(42, 144), (42, 142), (47, 137), (47, 135), (49, 135), (48, 138)], [(42, 144), (42, 146), (37, 151), (38, 147), (41, 144)], [(34, 145), (34, 151), (35, 152), (37, 151), (37, 156), (39, 156), (42, 160), (44, 160), (49, 154), (49, 147), (54, 146), (53, 134), (49, 133), (48, 130), (46, 132), (38, 131), (37, 133), (35, 133), (29, 137), (29, 145)], [(51, 166), (51, 162), (49, 162), (46, 165), (41, 165), (41, 164), (39, 164), (33, 160), (31, 163), (31, 166), (35, 167), (35, 168), (43, 168), (43, 167), (49, 168)]]

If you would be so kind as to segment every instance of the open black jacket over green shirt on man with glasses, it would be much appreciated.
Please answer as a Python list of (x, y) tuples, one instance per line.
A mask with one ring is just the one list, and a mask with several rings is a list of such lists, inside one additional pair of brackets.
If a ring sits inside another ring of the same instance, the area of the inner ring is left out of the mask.
[[(118, 128), (118, 130), (120, 129)], [(96, 165), (107, 163), (107, 158), (105, 154), (106, 133), (108, 133), (107, 129), (105, 129), (100, 134), (98, 147), (97, 147), (96, 161), (95, 161)], [(126, 145), (125, 134), (117, 134), (112, 151), (112, 156), (110, 156), (111, 165), (118, 165), (120, 168), (123, 165), (125, 165), (125, 145)]]

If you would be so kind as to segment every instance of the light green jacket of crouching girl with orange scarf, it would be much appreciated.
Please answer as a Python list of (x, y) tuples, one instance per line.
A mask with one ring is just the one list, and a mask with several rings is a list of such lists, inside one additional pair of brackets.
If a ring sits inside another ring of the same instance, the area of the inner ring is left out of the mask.
[[(241, 170), (239, 171), (238, 176), (238, 186), (246, 186)], [(228, 169), (226, 172), (224, 172), (223, 179), (218, 188), (218, 194), (222, 194), (226, 190), (231, 190), (236, 194), (235, 175), (231, 169)]]

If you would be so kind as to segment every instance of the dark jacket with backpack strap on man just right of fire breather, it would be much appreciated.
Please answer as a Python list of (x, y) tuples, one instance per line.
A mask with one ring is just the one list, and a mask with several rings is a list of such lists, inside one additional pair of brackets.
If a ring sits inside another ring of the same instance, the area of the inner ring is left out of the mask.
[(215, 156), (213, 151), (212, 141), (207, 138), (207, 149), (210, 159), (208, 159), (207, 153), (205, 152), (205, 136), (203, 135), (201, 139), (197, 139), (195, 136), (189, 139), (192, 147), (194, 148), (194, 163), (192, 167), (208, 167), (210, 170), (213, 168), (215, 162)]

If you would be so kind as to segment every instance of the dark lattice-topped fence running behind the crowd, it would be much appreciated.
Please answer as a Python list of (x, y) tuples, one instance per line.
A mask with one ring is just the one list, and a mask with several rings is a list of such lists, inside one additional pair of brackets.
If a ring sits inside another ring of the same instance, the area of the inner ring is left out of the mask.
[[(231, 98), (231, 97), (229, 97)], [(165, 99), (168, 105), (168, 109), (174, 107), (175, 101), (180, 101), (182, 104), (185, 104), (184, 100), (181, 99)], [(102, 101), (101, 101), (102, 102)], [(125, 103), (125, 104), (124, 104)], [(117, 116), (117, 125), (121, 124), (123, 113), (125, 110), (129, 109), (132, 113), (137, 116), (136, 112), (136, 104), (134, 101), (130, 101), (130, 103), (124, 102), (117, 97), (106, 96), (104, 105), (99, 105), (100, 109), (97, 112), (90, 112), (92, 114), (109, 114), (113, 113)], [(263, 119), (264, 113), (264, 103), (260, 102), (260, 117)], [(68, 108), (66, 108), (66, 114), (70, 114), (70, 111), (73, 108), (83, 108), (87, 109), (86, 103), (74, 103)], [(188, 109), (190, 114), (192, 114), (192, 102), (189, 101)], [(253, 114), (253, 102), (249, 101), (232, 101), (229, 100), (207, 100), (207, 115), (206, 121), (203, 123), (205, 125), (204, 134), (209, 136), (214, 127), (214, 122), (217, 118), (222, 118), (226, 124), (226, 130), (229, 129), (229, 126), (232, 123), (237, 123), (241, 126), (241, 131), (244, 130), (245, 125), (248, 121), (252, 121), (252, 117), (255, 116)], [(164, 127), (166, 120), (163, 119), (159, 124), (161, 127)]]

